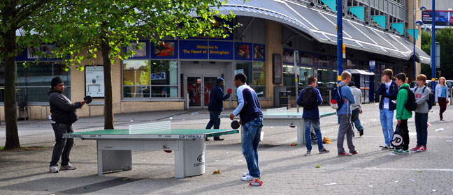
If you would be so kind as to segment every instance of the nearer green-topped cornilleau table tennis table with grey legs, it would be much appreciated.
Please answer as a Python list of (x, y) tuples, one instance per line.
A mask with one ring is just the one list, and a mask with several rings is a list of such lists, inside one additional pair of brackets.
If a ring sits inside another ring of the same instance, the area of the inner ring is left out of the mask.
[[(130, 126), (129, 126), (130, 129)], [(98, 175), (132, 169), (131, 150), (172, 150), (175, 153), (175, 178), (206, 173), (206, 137), (236, 134), (238, 130), (169, 129), (97, 130), (64, 134), (64, 138), (96, 140)]]

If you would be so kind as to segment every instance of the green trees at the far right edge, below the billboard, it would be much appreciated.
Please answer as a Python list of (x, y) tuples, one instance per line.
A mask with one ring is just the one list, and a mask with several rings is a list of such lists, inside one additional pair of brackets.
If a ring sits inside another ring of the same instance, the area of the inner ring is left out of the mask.
[[(440, 42), (440, 73), (453, 78), (453, 31), (450, 28), (436, 29), (436, 42)], [(431, 33), (422, 31), (422, 50), (431, 55)], [(422, 73), (431, 77), (431, 66), (422, 65)]]

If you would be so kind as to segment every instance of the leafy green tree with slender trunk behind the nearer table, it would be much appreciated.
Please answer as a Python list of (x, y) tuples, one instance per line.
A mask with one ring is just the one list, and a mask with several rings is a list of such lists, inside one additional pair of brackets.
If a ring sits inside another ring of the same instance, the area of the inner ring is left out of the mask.
[(122, 48), (138, 42), (139, 37), (157, 43), (165, 37), (226, 36), (225, 32), (232, 31), (226, 22), (234, 17), (218, 14), (215, 8), (222, 5), (220, 0), (67, 0), (63, 4), (71, 6), (59, 8), (52, 13), (56, 16), (50, 25), (37, 23), (34, 30), (56, 40), (57, 57), (70, 55), (66, 63), (80, 70), (83, 59), (92, 60), (101, 52), (105, 129), (114, 128), (111, 65), (134, 54)]

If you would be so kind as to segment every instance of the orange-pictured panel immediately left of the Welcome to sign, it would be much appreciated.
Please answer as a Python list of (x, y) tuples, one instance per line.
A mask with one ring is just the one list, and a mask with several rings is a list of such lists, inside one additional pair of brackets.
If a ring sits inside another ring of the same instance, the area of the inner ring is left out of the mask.
[(178, 42), (162, 40), (159, 44), (153, 44), (151, 51), (152, 59), (178, 59)]

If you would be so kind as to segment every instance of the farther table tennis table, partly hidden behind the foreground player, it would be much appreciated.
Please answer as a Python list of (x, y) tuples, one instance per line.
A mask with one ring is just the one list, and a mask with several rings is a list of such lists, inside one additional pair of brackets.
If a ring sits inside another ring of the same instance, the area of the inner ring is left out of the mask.
[[(336, 113), (319, 112), (319, 118), (333, 116)], [(302, 112), (287, 112), (287, 108), (267, 109), (263, 112), (263, 124), (265, 126), (297, 127), (297, 144), (305, 144), (305, 122)], [(229, 114), (222, 114), (222, 117), (229, 117)], [(236, 117), (237, 119), (239, 117)], [(241, 125), (242, 130), (242, 125)]]

